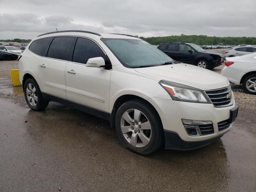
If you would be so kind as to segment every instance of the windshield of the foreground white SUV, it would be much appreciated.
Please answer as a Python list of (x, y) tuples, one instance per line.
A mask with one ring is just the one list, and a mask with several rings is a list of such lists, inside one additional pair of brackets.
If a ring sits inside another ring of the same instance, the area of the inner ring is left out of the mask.
[(162, 51), (140, 39), (102, 38), (101, 40), (128, 68), (158, 66), (174, 62)]

